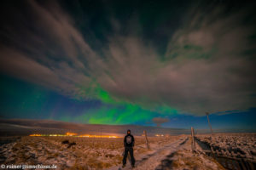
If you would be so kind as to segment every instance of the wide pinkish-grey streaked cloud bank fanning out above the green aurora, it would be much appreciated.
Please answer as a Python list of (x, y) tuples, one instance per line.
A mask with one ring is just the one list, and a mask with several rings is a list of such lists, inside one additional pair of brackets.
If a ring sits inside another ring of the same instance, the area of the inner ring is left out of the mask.
[[(0, 69), (7, 74), (79, 99), (96, 98), (91, 89), (99, 84), (117, 101), (150, 110), (168, 106), (195, 116), (255, 107), (250, 8), (228, 14), (224, 7), (212, 8), (207, 15), (192, 8), (183, 25), (166, 35), (166, 53), (160, 54), (137, 33), (143, 29), (138, 20), (122, 26), (111, 17), (109, 23), (119, 31), (103, 35), (107, 41), (95, 49), (85, 38), (93, 31), (79, 30), (58, 4), (29, 1), (27, 6), (28, 14), (17, 10), (10, 19), (20, 20), (18, 27), (9, 21), (1, 27)], [(133, 26), (131, 34), (120, 33)]]

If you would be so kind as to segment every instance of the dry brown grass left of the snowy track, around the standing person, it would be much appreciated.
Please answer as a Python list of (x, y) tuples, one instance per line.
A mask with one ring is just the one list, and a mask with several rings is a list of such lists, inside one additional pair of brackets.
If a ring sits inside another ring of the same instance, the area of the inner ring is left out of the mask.
[[(155, 147), (176, 140), (178, 137), (149, 137)], [(72, 148), (61, 144), (63, 140), (75, 142)], [(148, 152), (144, 137), (135, 137), (135, 154)], [(5, 164), (55, 164), (60, 169), (106, 169), (121, 164), (124, 151), (123, 139), (93, 139), (78, 137), (22, 137), (8, 145), (4, 152)]]

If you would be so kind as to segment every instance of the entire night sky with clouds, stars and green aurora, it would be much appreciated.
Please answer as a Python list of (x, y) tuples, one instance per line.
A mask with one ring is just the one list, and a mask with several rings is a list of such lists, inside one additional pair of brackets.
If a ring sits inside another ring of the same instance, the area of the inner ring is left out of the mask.
[(255, 1), (1, 1), (0, 118), (256, 132)]

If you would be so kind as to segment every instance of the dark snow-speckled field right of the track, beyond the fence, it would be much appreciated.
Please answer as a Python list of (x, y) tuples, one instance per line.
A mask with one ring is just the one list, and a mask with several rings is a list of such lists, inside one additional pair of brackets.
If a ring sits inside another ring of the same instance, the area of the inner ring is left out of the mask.
[(256, 169), (255, 133), (197, 135), (196, 141), (227, 169)]

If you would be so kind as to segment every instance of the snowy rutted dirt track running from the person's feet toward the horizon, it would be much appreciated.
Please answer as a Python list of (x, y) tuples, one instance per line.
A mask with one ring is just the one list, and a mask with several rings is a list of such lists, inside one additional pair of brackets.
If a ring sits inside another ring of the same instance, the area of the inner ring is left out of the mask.
[[(196, 144), (196, 148), (201, 150)], [(161, 148), (153, 148), (147, 154), (136, 156), (137, 162), (134, 170), (169, 170), (169, 169), (224, 169), (217, 161), (213, 160), (200, 152), (192, 153), (191, 139), (189, 136), (183, 136), (174, 142), (166, 144)], [(114, 169), (131, 169), (127, 163), (125, 168), (111, 167)]]

